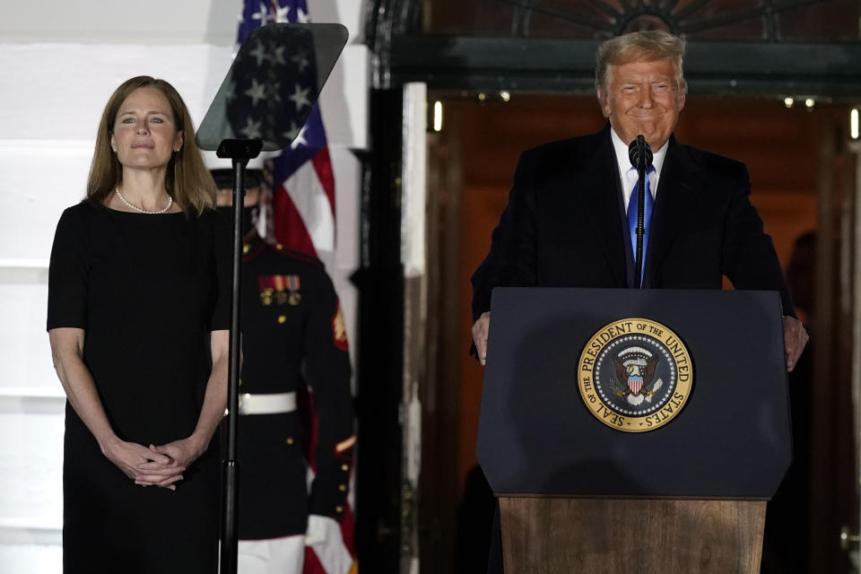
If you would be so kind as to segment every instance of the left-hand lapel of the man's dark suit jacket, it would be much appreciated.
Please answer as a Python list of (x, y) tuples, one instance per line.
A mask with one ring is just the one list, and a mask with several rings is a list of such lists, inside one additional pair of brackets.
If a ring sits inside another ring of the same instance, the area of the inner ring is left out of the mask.
[(601, 245), (617, 285), (627, 285), (627, 259), (624, 239), (627, 227), (622, 225), (624, 209), (619, 189), (619, 170), (616, 167), (610, 125), (601, 132), (595, 155), (580, 163), (582, 170), (575, 174), (573, 186), (584, 191), (592, 237)]

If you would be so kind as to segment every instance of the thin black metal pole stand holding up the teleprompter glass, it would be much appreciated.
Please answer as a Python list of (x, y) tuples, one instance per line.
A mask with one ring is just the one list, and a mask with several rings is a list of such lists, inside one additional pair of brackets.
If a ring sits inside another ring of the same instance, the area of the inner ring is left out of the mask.
[(236, 437), (239, 422), (239, 310), (242, 279), (242, 202), (245, 197), (245, 167), (256, 158), (263, 147), (260, 140), (223, 140), (215, 152), (220, 158), (233, 161), (233, 234), (230, 278), (230, 353), (228, 355), (227, 386), (227, 448), (223, 462), (222, 499), (222, 558), (221, 572), (235, 574), (237, 569), (237, 511), (239, 507), (239, 461), (236, 458)]

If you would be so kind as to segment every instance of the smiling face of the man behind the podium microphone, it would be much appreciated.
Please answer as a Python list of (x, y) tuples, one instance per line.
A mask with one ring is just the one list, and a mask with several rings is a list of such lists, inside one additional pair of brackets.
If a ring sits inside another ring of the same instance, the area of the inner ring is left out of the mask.
[(630, 144), (642, 134), (653, 152), (669, 139), (684, 108), (684, 91), (672, 60), (610, 65), (598, 97), (622, 142)]

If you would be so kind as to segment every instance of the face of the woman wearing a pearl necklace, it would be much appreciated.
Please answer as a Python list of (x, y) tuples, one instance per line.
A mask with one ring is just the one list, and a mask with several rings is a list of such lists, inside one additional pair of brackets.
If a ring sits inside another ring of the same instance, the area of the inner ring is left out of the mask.
[(110, 145), (124, 168), (151, 170), (168, 165), (182, 145), (170, 102), (155, 88), (138, 88), (119, 106)]

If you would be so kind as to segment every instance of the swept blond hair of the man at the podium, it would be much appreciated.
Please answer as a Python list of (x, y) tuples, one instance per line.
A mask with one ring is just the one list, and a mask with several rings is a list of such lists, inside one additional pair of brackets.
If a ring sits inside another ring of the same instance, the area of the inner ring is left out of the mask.
[(688, 84), (682, 70), (684, 48), (684, 39), (664, 30), (631, 32), (605, 40), (598, 46), (595, 57), (596, 91), (603, 91), (606, 87), (607, 70), (611, 65), (672, 60), (679, 73), (678, 87), (687, 93)]

